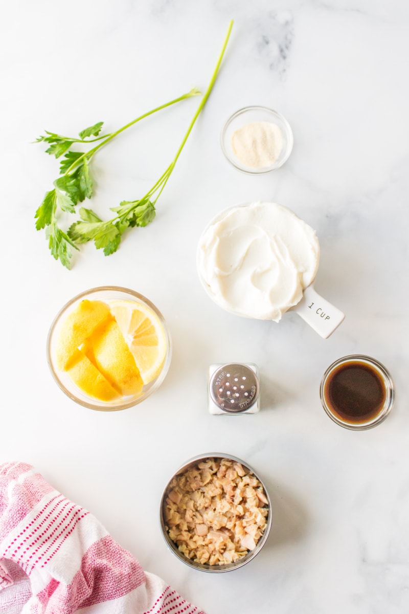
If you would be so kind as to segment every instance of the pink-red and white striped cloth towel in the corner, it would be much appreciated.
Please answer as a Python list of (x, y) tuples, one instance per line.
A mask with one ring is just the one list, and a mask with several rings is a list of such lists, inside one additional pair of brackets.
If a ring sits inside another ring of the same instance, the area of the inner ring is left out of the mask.
[(19, 462), (0, 465), (0, 612), (204, 614)]

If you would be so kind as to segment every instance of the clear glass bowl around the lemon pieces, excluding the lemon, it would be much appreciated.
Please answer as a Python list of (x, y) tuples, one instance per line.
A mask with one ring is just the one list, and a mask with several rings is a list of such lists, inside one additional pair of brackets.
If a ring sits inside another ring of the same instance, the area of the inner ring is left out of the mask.
[[(59, 370), (59, 368), (57, 367), (55, 360), (55, 350), (61, 325), (63, 324), (69, 313), (71, 313), (71, 311), (78, 305), (78, 303), (85, 298), (95, 301), (106, 301), (108, 303), (109, 301), (118, 300), (133, 301), (136, 304), (141, 303), (142, 305), (145, 305), (149, 309), (151, 309), (151, 311), (156, 314), (159, 321), (161, 322), (166, 336), (166, 356), (164, 358), (161, 371), (159, 372), (159, 375), (156, 376), (155, 379), (153, 379), (153, 381), (148, 383), (146, 386), (143, 386), (142, 391), (140, 391), (136, 395), (127, 395), (125, 397), (121, 397), (110, 402), (98, 400), (85, 394), (85, 392), (82, 392), (80, 388), (78, 388), (78, 386), (76, 386), (76, 384), (72, 381), (68, 373), (66, 371)], [(50, 332), (48, 332), (47, 338), (47, 361), (48, 366), (50, 367), (50, 370), (52, 372), (53, 378), (55, 379), (61, 390), (65, 392), (67, 397), (71, 398), (76, 403), (79, 403), (80, 405), (89, 408), (90, 410), (125, 410), (145, 400), (145, 398), (151, 395), (152, 392), (158, 389), (158, 387), (164, 380), (166, 373), (169, 369), (171, 355), (172, 342), (170, 340), (170, 333), (167, 328), (164, 317), (162, 316), (159, 309), (156, 308), (156, 306), (153, 305), (150, 300), (143, 297), (142, 294), (134, 292), (134, 290), (129, 290), (128, 288), (122, 288), (118, 286), (101, 286), (97, 288), (92, 288), (90, 290), (85, 290), (85, 292), (82, 292), (76, 297), (72, 298), (56, 315), (51, 325)]]

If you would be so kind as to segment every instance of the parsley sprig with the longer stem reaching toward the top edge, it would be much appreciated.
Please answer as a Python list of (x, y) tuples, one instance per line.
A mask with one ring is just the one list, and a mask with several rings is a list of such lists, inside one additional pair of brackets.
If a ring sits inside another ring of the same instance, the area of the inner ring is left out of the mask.
[(103, 249), (105, 255), (110, 255), (117, 251), (124, 231), (126, 231), (128, 228), (133, 228), (136, 226), (147, 226), (147, 224), (155, 218), (156, 201), (169, 180), (170, 174), (172, 174), (172, 171), (175, 168), (178, 157), (180, 156), (180, 153), (188, 140), (188, 136), (191, 133), (194, 123), (202, 111), (208, 96), (212, 91), (213, 85), (215, 84), (215, 80), (220, 69), (220, 64), (223, 60), (223, 55), (227, 47), (227, 42), (229, 41), (232, 25), (233, 22), (231, 21), (229, 23), (229, 28), (227, 29), (227, 34), (224, 39), (216, 68), (213, 72), (212, 79), (210, 80), (210, 84), (208, 85), (201, 103), (197, 107), (197, 111), (189, 124), (188, 130), (183, 137), (174, 159), (167, 167), (166, 171), (161, 175), (161, 177), (159, 177), (156, 184), (153, 185), (153, 187), (151, 187), (151, 189), (144, 196), (142, 196), (142, 198), (133, 201), (122, 201), (118, 207), (111, 208), (111, 211), (115, 213), (115, 216), (106, 222), (101, 220), (93, 211), (91, 211), (91, 209), (80, 208), (79, 214), (81, 220), (74, 222), (67, 233), (71, 241), (75, 243), (94, 241), (96, 249)]

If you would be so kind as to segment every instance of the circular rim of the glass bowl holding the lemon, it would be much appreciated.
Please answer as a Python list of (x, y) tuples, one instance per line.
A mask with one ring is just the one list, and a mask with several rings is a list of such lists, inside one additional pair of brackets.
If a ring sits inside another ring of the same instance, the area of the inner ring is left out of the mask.
[[(159, 320), (161, 321), (161, 324), (162, 324), (162, 326), (164, 328), (164, 332), (165, 332), (165, 336), (166, 336), (166, 341), (167, 341), (166, 356), (165, 356), (165, 359), (164, 359), (163, 367), (162, 367), (161, 373), (159, 373), (159, 376), (155, 380), (153, 385), (146, 392), (144, 392), (142, 395), (140, 395), (140, 397), (134, 398), (134, 399), (129, 400), (129, 401), (125, 402), (125, 403), (118, 402), (117, 405), (110, 405), (110, 406), (102, 405), (103, 402), (99, 403), (99, 402), (97, 402), (97, 400), (95, 402), (85, 401), (85, 400), (83, 400), (81, 398), (78, 398), (74, 394), (74, 392), (69, 391), (67, 389), (67, 387), (64, 386), (63, 382), (61, 382), (61, 380), (58, 377), (58, 374), (56, 373), (56, 370), (55, 370), (54, 365), (53, 365), (52, 351), (51, 351), (51, 344), (52, 344), (53, 333), (55, 332), (55, 328), (58, 325), (58, 322), (59, 322), (61, 316), (63, 316), (63, 314), (66, 313), (67, 309), (69, 309), (77, 301), (80, 301), (82, 298), (86, 298), (86, 297), (88, 297), (88, 296), (90, 296), (90, 295), (92, 295), (94, 293), (97, 293), (97, 292), (105, 292), (105, 291), (122, 292), (124, 294), (129, 294), (132, 297), (137, 298), (138, 300), (140, 300), (142, 303), (145, 303), (145, 305), (147, 305), (156, 314), (156, 316), (158, 316)], [(172, 339), (170, 337), (170, 332), (169, 332), (169, 328), (167, 327), (166, 320), (164, 319), (161, 311), (159, 311), (159, 309), (156, 307), (156, 305), (154, 305), (154, 303), (152, 303), (152, 301), (150, 301), (143, 294), (140, 294), (139, 292), (136, 292), (136, 290), (132, 290), (131, 288), (126, 288), (126, 287), (123, 287), (123, 286), (96, 286), (96, 287), (90, 288), (88, 290), (83, 290), (83, 292), (80, 292), (79, 294), (75, 295), (69, 301), (67, 301), (61, 307), (61, 309), (59, 309), (58, 313), (56, 314), (56, 316), (54, 317), (54, 319), (52, 321), (52, 324), (50, 325), (50, 328), (48, 330), (48, 335), (47, 335), (47, 363), (48, 363), (48, 367), (50, 368), (50, 371), (52, 373), (52, 376), (53, 376), (56, 384), (64, 392), (64, 394), (67, 395), (67, 397), (71, 398), (72, 401), (74, 401), (75, 403), (78, 403), (78, 405), (82, 405), (83, 407), (86, 407), (86, 408), (88, 408), (90, 410), (97, 410), (97, 411), (120, 411), (120, 410), (129, 409), (131, 407), (134, 407), (135, 405), (138, 405), (139, 403), (144, 401), (146, 398), (148, 398), (152, 394), (152, 392), (155, 392), (155, 390), (158, 389), (158, 387), (161, 385), (162, 381), (166, 377), (167, 371), (169, 370), (169, 365), (170, 365), (171, 357), (172, 357)]]

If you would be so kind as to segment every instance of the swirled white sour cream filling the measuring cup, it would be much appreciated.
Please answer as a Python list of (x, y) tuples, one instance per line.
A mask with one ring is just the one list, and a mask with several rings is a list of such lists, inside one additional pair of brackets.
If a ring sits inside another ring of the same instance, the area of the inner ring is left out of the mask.
[(277, 203), (221, 212), (197, 248), (199, 277), (215, 303), (238, 316), (275, 322), (302, 299), (318, 263), (315, 230)]

